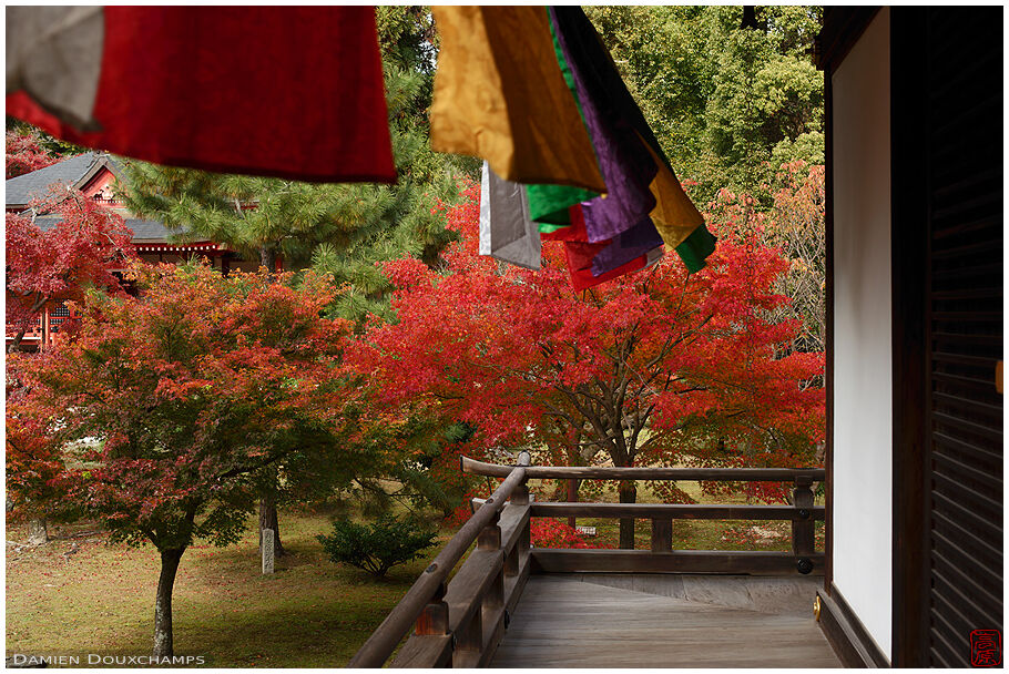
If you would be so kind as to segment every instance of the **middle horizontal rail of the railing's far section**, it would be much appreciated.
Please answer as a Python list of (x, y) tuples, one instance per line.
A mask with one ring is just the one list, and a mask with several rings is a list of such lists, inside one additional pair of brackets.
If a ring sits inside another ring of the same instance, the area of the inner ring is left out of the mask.
[[(796, 508), (792, 506), (705, 506), (693, 503), (561, 503), (536, 501), (530, 507), (532, 517), (562, 518), (638, 518), (673, 520), (823, 520), (823, 506)], [(801, 511), (807, 511), (803, 517)]]

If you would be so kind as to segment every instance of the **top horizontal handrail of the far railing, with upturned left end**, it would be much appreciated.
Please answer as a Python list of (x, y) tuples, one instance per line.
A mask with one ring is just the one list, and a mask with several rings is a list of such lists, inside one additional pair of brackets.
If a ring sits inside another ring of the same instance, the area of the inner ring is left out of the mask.
[[(461, 457), (462, 472), (503, 478), (510, 466), (486, 463)], [(807, 478), (821, 482), (826, 478), (823, 468), (622, 468), (616, 466), (529, 466), (529, 479), (595, 479), (595, 480), (706, 480), (712, 482), (794, 482)]]

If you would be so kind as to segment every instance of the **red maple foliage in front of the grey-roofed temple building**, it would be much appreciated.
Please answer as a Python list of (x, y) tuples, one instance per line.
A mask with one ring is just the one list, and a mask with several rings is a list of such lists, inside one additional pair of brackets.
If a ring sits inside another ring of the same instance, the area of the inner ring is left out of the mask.
[[(37, 218), (58, 221), (42, 229)], [(113, 273), (135, 258), (133, 233), (116, 213), (78, 191), (54, 185), (23, 213), (7, 214), (7, 325), (9, 349), (45, 307), (80, 302), (88, 287), (121, 290)]]

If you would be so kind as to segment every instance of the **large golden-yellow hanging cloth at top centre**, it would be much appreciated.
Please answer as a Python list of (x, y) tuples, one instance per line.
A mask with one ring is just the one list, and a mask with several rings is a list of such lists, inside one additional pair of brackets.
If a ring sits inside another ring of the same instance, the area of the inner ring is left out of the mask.
[(501, 178), (604, 193), (564, 83), (544, 7), (432, 7), (441, 35), (431, 147), (479, 156)]

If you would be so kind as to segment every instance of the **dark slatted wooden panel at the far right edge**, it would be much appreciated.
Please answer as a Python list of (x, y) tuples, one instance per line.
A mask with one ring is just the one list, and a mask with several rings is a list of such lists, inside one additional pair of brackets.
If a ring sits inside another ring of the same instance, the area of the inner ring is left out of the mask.
[[(930, 664), (967, 666), (1002, 626), (1001, 19), (928, 10)], [(982, 65), (987, 64), (987, 65)], [(954, 130), (962, 132), (954, 132)]]

